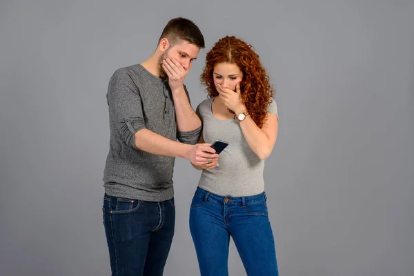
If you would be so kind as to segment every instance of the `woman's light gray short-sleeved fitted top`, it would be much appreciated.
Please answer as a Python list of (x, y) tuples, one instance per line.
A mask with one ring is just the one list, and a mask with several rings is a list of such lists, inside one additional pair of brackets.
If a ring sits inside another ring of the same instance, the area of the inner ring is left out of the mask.
[[(203, 124), (204, 141), (228, 142), (219, 155), (219, 166), (202, 170), (198, 186), (210, 193), (230, 197), (248, 197), (264, 191), (264, 160), (259, 159), (248, 146), (236, 119), (217, 119), (211, 111), (214, 98), (202, 101), (196, 109)], [(273, 99), (268, 112), (277, 116)]]

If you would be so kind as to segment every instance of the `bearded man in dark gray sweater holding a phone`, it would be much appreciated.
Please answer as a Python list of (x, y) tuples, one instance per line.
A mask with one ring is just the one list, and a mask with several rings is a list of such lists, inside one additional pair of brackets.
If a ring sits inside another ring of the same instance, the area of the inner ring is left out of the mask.
[(152, 56), (109, 81), (103, 224), (112, 275), (163, 274), (175, 228), (175, 157), (195, 165), (217, 161), (210, 144), (196, 144), (201, 121), (184, 86), (200, 48), (204, 37), (195, 23), (171, 19)]

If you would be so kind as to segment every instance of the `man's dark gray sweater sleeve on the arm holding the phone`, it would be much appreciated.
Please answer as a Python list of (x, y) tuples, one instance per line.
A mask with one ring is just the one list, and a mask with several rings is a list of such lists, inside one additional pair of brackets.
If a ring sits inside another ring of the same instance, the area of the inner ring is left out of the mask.
[(146, 128), (146, 125), (139, 90), (126, 68), (118, 69), (112, 75), (107, 100), (110, 120), (119, 130), (121, 139), (137, 149), (135, 132)]

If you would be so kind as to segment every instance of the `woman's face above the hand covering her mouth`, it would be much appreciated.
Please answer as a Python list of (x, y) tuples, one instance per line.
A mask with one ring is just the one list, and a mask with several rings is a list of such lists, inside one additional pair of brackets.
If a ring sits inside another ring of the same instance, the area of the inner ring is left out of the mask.
[(236, 84), (242, 81), (243, 72), (235, 63), (217, 63), (213, 69), (214, 84), (223, 88), (236, 90)]

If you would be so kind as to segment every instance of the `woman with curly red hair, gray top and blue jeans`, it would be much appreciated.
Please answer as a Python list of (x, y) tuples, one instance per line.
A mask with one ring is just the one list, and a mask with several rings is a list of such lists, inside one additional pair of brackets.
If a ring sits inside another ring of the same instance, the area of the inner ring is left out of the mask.
[(201, 276), (228, 275), (230, 236), (248, 275), (278, 275), (264, 193), (264, 159), (277, 137), (277, 106), (259, 56), (235, 37), (208, 52), (201, 74), (208, 99), (197, 106), (199, 143), (228, 142), (219, 161), (204, 164), (190, 208)]

